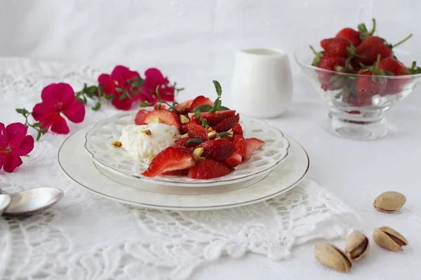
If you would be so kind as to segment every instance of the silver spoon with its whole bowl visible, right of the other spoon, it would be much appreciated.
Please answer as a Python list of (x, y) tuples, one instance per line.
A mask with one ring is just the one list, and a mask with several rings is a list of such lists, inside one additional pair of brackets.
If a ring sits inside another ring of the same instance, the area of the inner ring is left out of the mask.
[(4, 211), (4, 215), (19, 217), (45, 211), (62, 199), (63, 192), (53, 187), (38, 187), (9, 195), (11, 203)]

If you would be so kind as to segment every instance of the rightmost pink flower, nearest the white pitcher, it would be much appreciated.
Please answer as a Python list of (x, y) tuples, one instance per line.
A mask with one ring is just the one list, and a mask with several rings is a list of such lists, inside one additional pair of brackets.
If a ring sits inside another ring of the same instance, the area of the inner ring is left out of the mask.
[(154, 102), (159, 100), (156, 96), (156, 86), (159, 86), (159, 94), (163, 101), (174, 101), (174, 88), (168, 86), (170, 81), (163, 76), (161, 71), (156, 68), (149, 68), (145, 71), (145, 84), (142, 86), (143, 101)]

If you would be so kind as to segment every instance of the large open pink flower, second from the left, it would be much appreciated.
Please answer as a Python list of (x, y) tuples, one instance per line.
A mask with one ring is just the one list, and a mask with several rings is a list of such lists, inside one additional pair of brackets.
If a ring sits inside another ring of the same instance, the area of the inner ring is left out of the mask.
[(60, 134), (69, 133), (69, 126), (61, 113), (69, 121), (79, 124), (85, 118), (85, 106), (76, 100), (72, 86), (69, 84), (51, 84), (41, 92), (42, 102), (32, 109), (32, 116), (42, 123), (41, 128), (51, 128)]

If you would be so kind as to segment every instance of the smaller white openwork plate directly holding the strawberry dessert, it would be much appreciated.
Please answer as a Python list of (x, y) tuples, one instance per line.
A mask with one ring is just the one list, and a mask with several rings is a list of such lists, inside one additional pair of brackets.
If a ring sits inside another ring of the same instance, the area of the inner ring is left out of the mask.
[(246, 138), (259, 138), (265, 145), (253, 152), (250, 161), (246, 161), (235, 168), (235, 171), (220, 178), (198, 180), (187, 176), (157, 176), (147, 178), (141, 173), (147, 164), (128, 157), (128, 153), (121, 148), (111, 145), (119, 140), (121, 131), (128, 124), (134, 124), (135, 113), (123, 112), (104, 119), (86, 133), (85, 148), (97, 164), (107, 171), (133, 176), (138, 180), (146, 180), (154, 184), (178, 185), (182, 187), (209, 187), (210, 185), (225, 185), (249, 180), (266, 171), (272, 171), (288, 155), (289, 142), (283, 137), (279, 129), (269, 126), (264, 121), (241, 116), (240, 124)]

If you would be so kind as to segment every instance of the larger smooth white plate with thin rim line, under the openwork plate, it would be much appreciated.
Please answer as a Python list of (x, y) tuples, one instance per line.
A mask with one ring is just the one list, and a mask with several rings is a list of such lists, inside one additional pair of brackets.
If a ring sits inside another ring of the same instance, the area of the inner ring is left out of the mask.
[[(254, 204), (287, 192), (305, 178), (309, 158), (305, 150), (290, 141), (289, 154), (266, 178), (249, 187), (218, 194), (163, 194), (150, 192), (150, 182), (139, 181), (139, 187), (129, 187), (107, 178), (96, 168), (83, 147), (84, 136), (91, 127), (83, 128), (63, 142), (58, 152), (58, 162), (69, 178), (82, 187), (108, 199), (146, 208), (178, 211), (212, 210)], [(257, 179), (256, 179), (257, 180)], [(141, 186), (141, 185), (145, 186)], [(242, 183), (239, 183), (241, 185)], [(149, 186), (148, 186), (149, 185)], [(155, 185), (156, 189), (162, 185)]]

